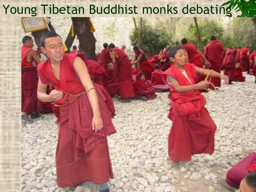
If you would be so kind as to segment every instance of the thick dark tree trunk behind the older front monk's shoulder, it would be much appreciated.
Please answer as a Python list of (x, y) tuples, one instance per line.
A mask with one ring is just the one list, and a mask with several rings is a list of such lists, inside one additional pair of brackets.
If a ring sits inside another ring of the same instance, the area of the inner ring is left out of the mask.
[(74, 32), (78, 36), (79, 51), (84, 53), (88, 59), (95, 58), (96, 38), (91, 32), (90, 17), (71, 17)]

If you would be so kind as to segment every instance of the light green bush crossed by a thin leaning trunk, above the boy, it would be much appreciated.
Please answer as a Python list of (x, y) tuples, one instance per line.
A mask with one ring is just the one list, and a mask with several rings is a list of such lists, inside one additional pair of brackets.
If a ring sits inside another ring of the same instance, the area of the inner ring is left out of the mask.
[[(223, 39), (224, 28), (216, 20), (204, 18), (202, 22), (198, 21), (198, 28), (201, 35), (201, 41), (203, 46), (206, 46), (210, 41), (210, 36), (214, 35), (219, 41)], [(197, 31), (194, 23), (190, 23), (188, 26), (188, 31), (185, 37), (188, 42), (194, 44), (199, 48), (199, 43), (197, 40)]]

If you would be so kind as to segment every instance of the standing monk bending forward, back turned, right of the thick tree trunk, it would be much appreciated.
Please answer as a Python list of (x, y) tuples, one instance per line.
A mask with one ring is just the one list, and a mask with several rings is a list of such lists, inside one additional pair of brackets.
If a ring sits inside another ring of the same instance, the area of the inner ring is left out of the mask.
[(135, 97), (133, 93), (132, 65), (129, 57), (123, 49), (117, 48), (113, 43), (109, 46), (112, 54), (113, 64), (118, 67), (119, 95), (122, 102), (130, 102), (130, 98)]

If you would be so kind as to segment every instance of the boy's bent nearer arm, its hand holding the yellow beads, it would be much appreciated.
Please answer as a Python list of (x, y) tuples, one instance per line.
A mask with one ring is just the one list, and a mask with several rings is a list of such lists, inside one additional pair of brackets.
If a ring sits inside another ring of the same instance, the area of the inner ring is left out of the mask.
[(209, 82), (201, 81), (195, 85), (180, 86), (178, 82), (172, 76), (169, 75), (167, 75), (167, 80), (177, 92), (187, 92), (197, 89), (206, 89), (207, 86), (210, 84)]

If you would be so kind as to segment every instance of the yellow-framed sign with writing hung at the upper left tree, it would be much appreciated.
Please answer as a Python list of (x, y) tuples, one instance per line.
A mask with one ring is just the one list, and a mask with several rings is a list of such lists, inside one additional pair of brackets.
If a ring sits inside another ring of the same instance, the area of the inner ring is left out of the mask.
[(21, 17), (21, 24), (25, 33), (48, 28), (43, 17)]

